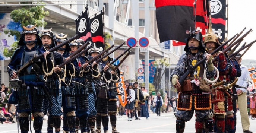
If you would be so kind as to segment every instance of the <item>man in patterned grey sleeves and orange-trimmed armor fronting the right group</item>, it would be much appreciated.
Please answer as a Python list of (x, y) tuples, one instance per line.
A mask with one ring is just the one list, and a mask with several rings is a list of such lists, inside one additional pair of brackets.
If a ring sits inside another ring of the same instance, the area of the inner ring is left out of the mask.
[[(202, 34), (199, 31), (189, 32), (187, 43), (184, 48), (185, 54), (181, 55), (178, 60), (177, 66), (171, 73), (172, 84), (179, 90), (178, 94), (178, 111), (174, 113), (176, 117), (176, 133), (183, 133), (185, 129), (185, 122), (189, 121), (193, 117), (193, 112), (196, 112), (196, 133), (202, 133), (203, 129), (207, 133), (213, 133), (213, 111), (211, 109), (211, 92), (206, 92), (205, 86), (199, 88), (195, 82), (203, 77), (204, 65), (206, 61), (200, 64), (195, 70), (193, 70), (184, 80), (187, 83), (182, 86), (178, 82), (178, 79), (184, 75), (187, 68), (195, 65), (200, 60), (206, 57), (208, 62), (206, 63), (206, 76), (208, 78), (214, 77), (216, 71), (211, 61), (211, 54), (207, 54), (205, 46), (203, 44)], [(207, 90), (209, 91), (209, 90)], [(203, 125), (203, 123), (206, 123)]]

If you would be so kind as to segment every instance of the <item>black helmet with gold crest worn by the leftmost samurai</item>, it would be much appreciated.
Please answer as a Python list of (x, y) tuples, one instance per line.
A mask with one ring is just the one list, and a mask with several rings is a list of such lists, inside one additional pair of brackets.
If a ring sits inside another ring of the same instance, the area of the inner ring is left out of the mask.
[[(22, 45), (24, 45), (26, 43), (30, 43), (30, 42), (34, 42), (35, 44), (42, 45), (41, 38), (38, 35), (40, 33), (40, 31), (38, 31), (35, 26), (37, 26), (37, 24), (35, 24), (35, 25), (27, 25), (26, 27), (22, 25), (23, 32), (21, 34), (21, 37), (20, 37), (18, 45), (22, 46)], [(25, 42), (25, 38), (24, 37), (25, 37), (26, 33), (35, 34), (36, 35), (36, 39), (34, 41), (27, 41), (27, 42)]]

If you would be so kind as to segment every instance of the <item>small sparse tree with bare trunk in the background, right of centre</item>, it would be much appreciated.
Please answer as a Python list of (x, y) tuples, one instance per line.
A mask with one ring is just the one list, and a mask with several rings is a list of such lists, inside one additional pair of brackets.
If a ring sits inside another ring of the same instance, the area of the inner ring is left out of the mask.
[[(170, 63), (168, 62), (168, 60), (166, 58), (162, 58), (162, 59), (157, 59), (154, 62), (154, 65), (156, 67), (156, 73), (155, 73), (155, 79), (156, 79), (156, 86), (155, 86), (155, 90), (156, 93), (159, 91), (159, 89), (161, 89), (161, 79), (164, 76), (165, 73), (165, 69), (170, 66)], [(164, 72), (162, 73), (162, 70), (164, 69)], [(165, 86), (164, 86), (165, 87)]]

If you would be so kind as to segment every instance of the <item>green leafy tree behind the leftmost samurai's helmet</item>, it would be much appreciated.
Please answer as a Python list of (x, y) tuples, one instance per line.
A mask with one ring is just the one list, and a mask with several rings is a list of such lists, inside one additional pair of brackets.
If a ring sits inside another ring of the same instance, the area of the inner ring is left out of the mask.
[[(19, 22), (20, 26), (27, 26), (29, 24), (38, 26), (46, 26), (47, 22), (43, 21), (45, 16), (49, 15), (48, 11), (43, 10), (44, 6), (24, 6), (20, 9), (15, 9), (11, 12), (11, 19), (14, 22)], [(17, 30), (4, 30), (4, 33), (10, 36), (16, 37), (16, 40), (20, 39), (21, 33)], [(18, 41), (14, 42), (10, 49), (4, 48), (3, 54), (5, 57), (11, 57), (16, 48), (18, 47)]]

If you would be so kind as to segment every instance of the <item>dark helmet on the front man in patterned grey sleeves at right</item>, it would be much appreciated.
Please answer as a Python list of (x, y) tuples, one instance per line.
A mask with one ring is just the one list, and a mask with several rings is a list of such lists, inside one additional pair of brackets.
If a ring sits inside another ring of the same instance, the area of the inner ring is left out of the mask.
[(190, 48), (189, 48), (189, 39), (190, 38), (195, 38), (197, 41), (199, 41), (199, 46), (197, 47), (197, 49), (201, 49), (201, 50), (205, 51), (205, 45), (203, 44), (203, 36), (200, 31), (188, 31), (187, 30), (186, 33), (189, 34), (189, 37), (187, 38), (187, 43), (184, 48), (184, 51), (188, 52), (190, 50)]

